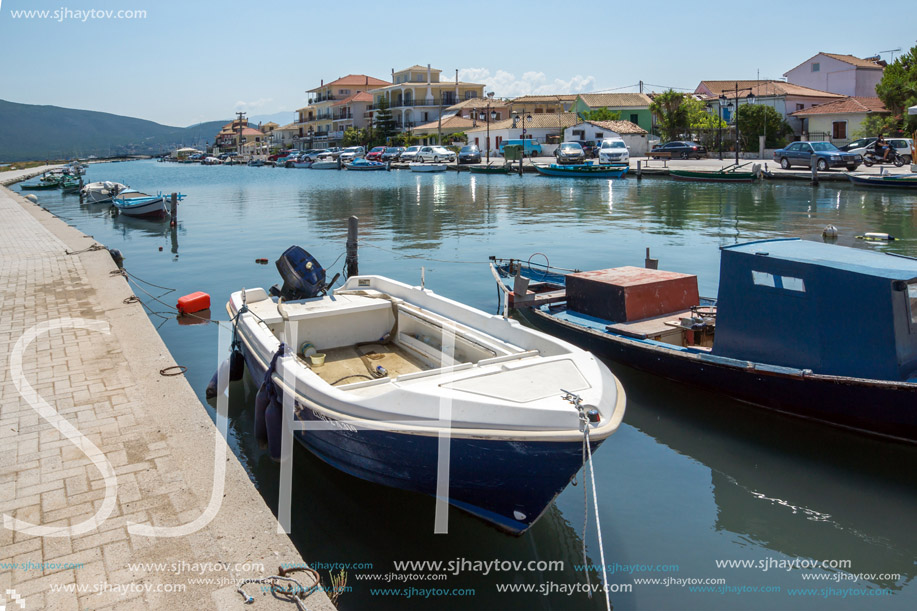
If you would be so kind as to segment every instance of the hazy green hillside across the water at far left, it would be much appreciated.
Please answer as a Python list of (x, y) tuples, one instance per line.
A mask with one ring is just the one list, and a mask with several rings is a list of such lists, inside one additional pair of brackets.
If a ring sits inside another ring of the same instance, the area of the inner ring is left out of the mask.
[(0, 161), (155, 155), (213, 142), (229, 123), (172, 127), (107, 112), (0, 100)]

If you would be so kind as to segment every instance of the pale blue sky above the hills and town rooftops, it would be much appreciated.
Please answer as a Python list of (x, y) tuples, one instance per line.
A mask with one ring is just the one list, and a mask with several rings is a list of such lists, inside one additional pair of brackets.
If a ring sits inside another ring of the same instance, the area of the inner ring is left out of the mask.
[[(428, 63), (497, 96), (633, 91), (640, 80), (648, 90), (693, 90), (703, 79), (779, 78), (819, 51), (906, 50), (917, 22), (904, 6), (0, 0), (0, 98), (190, 125), (237, 110), (292, 111), (321, 79), (388, 78)], [(11, 13), (29, 9), (71, 17)], [(146, 18), (74, 18), (90, 9)]]

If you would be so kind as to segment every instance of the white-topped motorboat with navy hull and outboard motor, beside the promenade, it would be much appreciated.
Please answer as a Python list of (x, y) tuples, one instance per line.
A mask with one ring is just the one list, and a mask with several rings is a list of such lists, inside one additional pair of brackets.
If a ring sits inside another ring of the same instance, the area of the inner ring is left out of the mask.
[(519, 534), (583, 465), (584, 439), (595, 449), (621, 423), (617, 378), (564, 341), (380, 276), (322, 295), (325, 272), (298, 247), (277, 266), (274, 298), (248, 289), (227, 304), (259, 397), (286, 399), (256, 409), (275, 457), (292, 410), (325, 427), (295, 434), (328, 464), (436, 495), (446, 436), (448, 501)]

